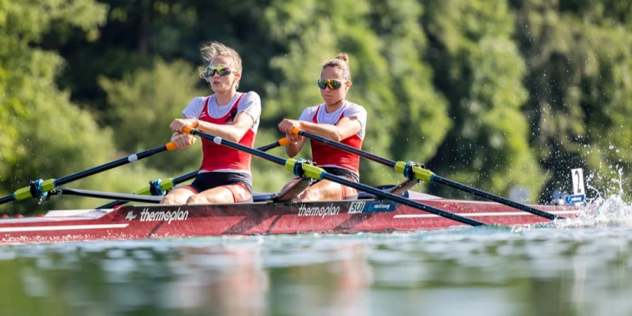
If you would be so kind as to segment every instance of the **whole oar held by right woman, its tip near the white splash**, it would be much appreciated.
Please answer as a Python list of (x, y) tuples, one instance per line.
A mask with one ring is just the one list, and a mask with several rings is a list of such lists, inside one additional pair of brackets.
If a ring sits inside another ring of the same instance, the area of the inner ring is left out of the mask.
[(532, 213), (534, 215), (537, 216), (541, 216), (544, 218), (548, 218), (550, 220), (554, 220), (554, 219), (563, 219), (564, 217), (562, 216), (558, 216), (552, 213), (548, 213), (546, 211), (541, 211), (539, 209), (535, 209), (531, 206), (525, 205), (525, 204), (520, 204), (518, 202), (513, 202), (510, 199), (506, 199), (504, 197), (500, 197), (498, 195), (494, 195), (492, 193), (489, 192), (485, 192), (483, 190), (479, 190), (475, 187), (470, 187), (468, 185), (464, 185), (462, 183), (458, 183), (454, 180), (449, 180), (447, 178), (443, 178), (441, 176), (437, 176), (435, 173), (433, 173), (433, 171), (430, 171), (428, 169), (424, 169), (423, 167), (411, 163), (411, 162), (395, 162), (394, 160), (390, 160), (390, 159), (386, 159), (383, 157), (379, 157), (376, 154), (371, 154), (370, 152), (365, 152), (364, 150), (359, 150), (355, 147), (351, 147), (349, 145), (345, 145), (343, 143), (338, 143), (335, 140), (331, 140), (329, 138), (324, 138), (322, 136), (318, 136), (318, 135), (314, 135), (312, 133), (308, 133), (306, 131), (303, 131), (301, 129), (297, 129), (296, 127), (294, 129), (292, 129), (292, 133), (296, 134), (296, 135), (300, 135), (300, 136), (305, 136), (307, 138), (310, 138), (312, 140), (316, 140), (317, 142), (320, 143), (324, 143), (325, 145), (329, 145), (331, 147), (336, 147), (339, 150), (343, 150), (345, 152), (350, 152), (352, 154), (357, 154), (360, 157), (364, 157), (366, 159), (369, 159), (373, 162), (378, 162), (380, 164), (384, 164), (386, 166), (390, 166), (391, 168), (395, 169), (395, 171), (404, 174), (404, 176), (406, 176), (409, 179), (418, 179), (418, 180), (423, 180), (423, 181), (427, 181), (427, 182), (436, 182), (436, 183), (440, 183), (442, 185), (447, 185), (448, 187), (453, 187), (457, 190), (461, 190), (463, 192), (468, 192), (472, 195), (476, 195), (478, 197), (482, 197), (484, 199), (489, 199), (490, 201), (494, 201), (494, 202), (498, 202), (500, 204), (505, 204), (508, 206), (511, 206), (515, 209), (520, 209), (521, 211), (526, 211), (529, 213)]

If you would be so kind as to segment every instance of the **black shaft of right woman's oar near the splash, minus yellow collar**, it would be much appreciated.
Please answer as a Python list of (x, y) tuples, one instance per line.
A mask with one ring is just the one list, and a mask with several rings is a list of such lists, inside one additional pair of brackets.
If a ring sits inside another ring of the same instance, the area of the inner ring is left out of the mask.
[[(305, 136), (307, 138), (316, 140), (317, 142), (324, 143), (324, 144), (329, 145), (331, 147), (338, 148), (339, 150), (343, 150), (345, 152), (350, 152), (352, 154), (357, 154), (360, 157), (369, 159), (369, 160), (371, 160), (373, 162), (378, 162), (380, 164), (384, 164), (386, 166), (395, 167), (397, 165), (397, 162), (395, 162), (393, 160), (386, 159), (386, 158), (383, 158), (383, 157), (379, 157), (379, 156), (377, 156), (375, 154), (371, 154), (370, 152), (365, 152), (364, 150), (359, 150), (359, 149), (357, 149), (355, 147), (351, 147), (351, 146), (345, 145), (343, 143), (338, 143), (335, 140), (330, 140), (329, 138), (324, 138), (322, 136), (314, 135), (312, 133), (308, 133), (308, 132), (303, 131), (301, 129), (294, 128), (292, 130), (292, 133), (295, 133), (295, 134), (298, 134), (298, 135), (301, 135), (301, 136)], [(414, 168), (417, 168), (417, 167), (414, 167)], [(500, 203), (500, 204), (505, 204), (505, 205), (511, 206), (511, 207), (513, 207), (515, 209), (519, 209), (521, 211), (526, 211), (528, 213), (532, 213), (532, 214), (534, 214), (536, 216), (541, 216), (541, 217), (544, 217), (544, 218), (548, 218), (550, 220), (564, 218), (562, 216), (558, 216), (558, 215), (555, 215), (553, 213), (548, 213), (548, 212), (545, 212), (545, 211), (541, 211), (539, 209), (535, 209), (535, 208), (533, 208), (531, 206), (528, 206), (528, 205), (525, 205), (525, 204), (520, 204), (518, 202), (513, 202), (510, 199), (506, 199), (504, 197), (500, 197), (498, 195), (494, 195), (492, 193), (485, 192), (483, 190), (478, 190), (475, 187), (470, 187), (468, 185), (463, 185), (461, 183), (455, 182), (453, 180), (449, 180), (447, 178), (442, 178), (442, 177), (437, 176), (436, 174), (432, 173), (431, 171), (423, 172), (423, 173), (424, 173), (425, 176), (423, 176), (423, 178), (420, 178), (419, 180), (429, 180), (431, 182), (436, 182), (436, 183), (440, 183), (442, 185), (447, 185), (447, 186), (453, 187), (453, 188), (455, 188), (457, 190), (461, 190), (463, 192), (468, 192), (468, 193), (470, 193), (472, 195), (476, 195), (478, 197), (489, 199), (490, 201), (497, 202), (497, 203)]]

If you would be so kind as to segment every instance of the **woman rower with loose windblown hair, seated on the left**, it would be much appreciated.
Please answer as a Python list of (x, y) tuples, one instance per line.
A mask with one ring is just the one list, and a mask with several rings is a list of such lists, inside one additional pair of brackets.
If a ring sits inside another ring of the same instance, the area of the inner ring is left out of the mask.
[[(171, 141), (179, 148), (195, 142), (180, 133), (185, 126), (199, 129), (235, 143), (252, 147), (255, 142), (261, 99), (255, 92), (239, 93), (242, 58), (232, 48), (211, 42), (200, 50), (208, 66), (200, 71), (213, 94), (193, 98), (183, 110), (183, 119), (174, 119), (169, 128)], [(202, 139), (202, 166), (191, 185), (171, 190), (162, 204), (207, 204), (252, 200), (251, 155)]]

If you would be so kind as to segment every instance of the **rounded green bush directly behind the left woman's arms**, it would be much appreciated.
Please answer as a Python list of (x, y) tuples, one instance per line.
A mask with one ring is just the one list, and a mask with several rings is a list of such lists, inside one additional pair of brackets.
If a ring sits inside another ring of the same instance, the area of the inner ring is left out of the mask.
[[(118, 81), (100, 77), (109, 105), (107, 120), (112, 121), (119, 149), (138, 152), (169, 142), (171, 121), (182, 117), (191, 98), (209, 94), (197, 88), (199, 81), (197, 69), (189, 63), (180, 60), (167, 64), (159, 59), (152, 69), (137, 70)], [(173, 176), (194, 171), (202, 159), (199, 143), (163, 154), (150, 164)]]

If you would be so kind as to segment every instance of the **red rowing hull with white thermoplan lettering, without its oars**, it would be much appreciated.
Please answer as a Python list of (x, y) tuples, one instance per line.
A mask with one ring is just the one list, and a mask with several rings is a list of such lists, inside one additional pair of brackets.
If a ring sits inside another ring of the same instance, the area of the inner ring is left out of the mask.
[[(416, 201), (483, 223), (523, 225), (546, 218), (494, 202), (442, 199), (409, 192)], [(572, 217), (575, 206), (535, 206)], [(119, 209), (49, 211), (44, 217), (0, 220), (0, 243), (70, 242), (211, 235), (435, 230), (460, 225), (381, 199), (331, 202), (255, 202), (197, 206), (124, 206)]]

